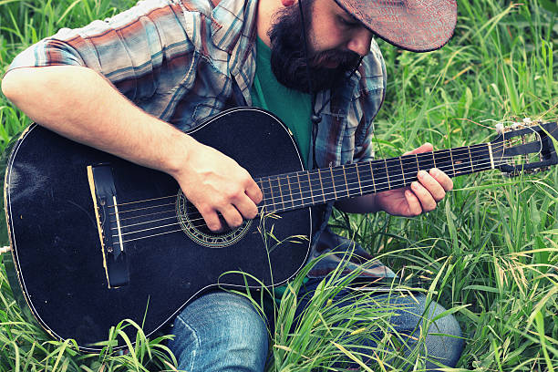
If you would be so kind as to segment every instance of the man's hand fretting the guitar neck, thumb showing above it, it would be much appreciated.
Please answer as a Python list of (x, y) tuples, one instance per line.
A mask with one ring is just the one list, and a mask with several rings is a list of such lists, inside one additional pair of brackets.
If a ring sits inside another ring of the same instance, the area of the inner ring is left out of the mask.
[[(432, 151), (430, 143), (403, 155), (419, 154)], [(453, 188), (453, 181), (446, 173), (437, 168), (430, 171), (419, 171), (418, 181), (410, 187), (403, 187), (376, 194), (377, 208), (396, 216), (412, 217), (424, 212), (433, 211), (439, 201), (444, 199), (446, 191)]]

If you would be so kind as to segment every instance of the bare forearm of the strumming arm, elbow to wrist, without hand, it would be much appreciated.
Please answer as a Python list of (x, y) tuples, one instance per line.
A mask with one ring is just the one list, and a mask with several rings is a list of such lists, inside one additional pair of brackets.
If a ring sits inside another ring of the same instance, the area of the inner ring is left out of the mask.
[(42, 126), (120, 158), (174, 175), (197, 144), (134, 106), (86, 67), (18, 68), (5, 75), (5, 96)]

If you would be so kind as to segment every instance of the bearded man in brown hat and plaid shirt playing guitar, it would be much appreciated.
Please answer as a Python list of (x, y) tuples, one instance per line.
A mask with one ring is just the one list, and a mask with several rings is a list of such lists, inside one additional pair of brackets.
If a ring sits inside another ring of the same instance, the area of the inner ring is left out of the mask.
[[(386, 80), (373, 33), (427, 51), (444, 45), (455, 25), (454, 0), (302, 1), (140, 2), (29, 48), (15, 58), (2, 88), (48, 129), (171, 174), (212, 231), (223, 227), (218, 213), (239, 226), (256, 216), (262, 192), (234, 160), (182, 130), (222, 109), (256, 104), (284, 119), (310, 168), (369, 160)], [(425, 144), (412, 153), (431, 149)], [(433, 210), (451, 188), (448, 176), (433, 169), (421, 171), (410, 188), (336, 206), (414, 216)], [(318, 251), (315, 245), (313, 255)], [(414, 316), (402, 316), (398, 329), (417, 326), (424, 299), (413, 306)], [(443, 311), (433, 308), (427, 314)], [(460, 334), (450, 316), (436, 326), (436, 333)], [(266, 327), (243, 297), (202, 295), (173, 329), (170, 346), (181, 369), (263, 370)], [(427, 344), (429, 357), (444, 364), (460, 356), (459, 338), (431, 336)]]

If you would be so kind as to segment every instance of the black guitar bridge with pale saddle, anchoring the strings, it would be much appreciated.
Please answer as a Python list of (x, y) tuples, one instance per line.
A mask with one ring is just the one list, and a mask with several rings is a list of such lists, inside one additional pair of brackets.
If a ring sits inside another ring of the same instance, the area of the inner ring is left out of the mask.
[(109, 288), (129, 284), (129, 265), (122, 242), (117, 192), (110, 165), (89, 165), (88, 180)]

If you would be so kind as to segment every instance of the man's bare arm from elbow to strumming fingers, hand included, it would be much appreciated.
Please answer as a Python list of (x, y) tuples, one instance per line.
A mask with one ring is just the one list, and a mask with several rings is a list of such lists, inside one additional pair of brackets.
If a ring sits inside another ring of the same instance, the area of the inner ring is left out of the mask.
[(2, 81), (7, 98), (44, 127), (142, 166), (165, 171), (202, 213), (208, 227), (230, 226), (257, 214), (262, 193), (234, 160), (122, 96), (87, 67), (23, 67)]

